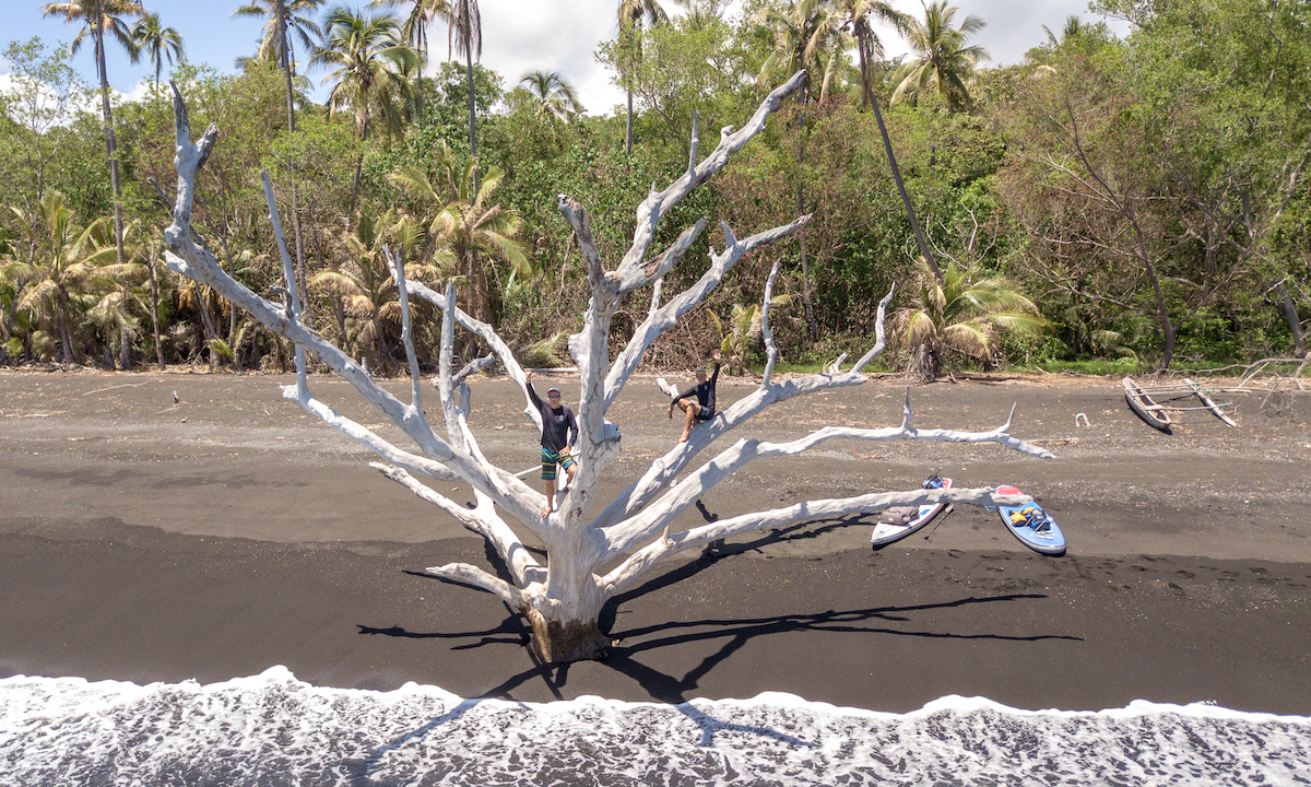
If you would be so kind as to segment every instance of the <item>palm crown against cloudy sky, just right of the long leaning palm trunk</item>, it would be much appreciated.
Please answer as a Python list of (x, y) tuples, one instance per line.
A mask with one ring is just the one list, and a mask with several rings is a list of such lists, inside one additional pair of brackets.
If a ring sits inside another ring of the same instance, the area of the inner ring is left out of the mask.
[(960, 28), (953, 28), (956, 12), (954, 7), (947, 5), (947, 0), (937, 0), (924, 7), (923, 22), (910, 20), (907, 38), (918, 55), (894, 77), (899, 79), (899, 84), (893, 92), (893, 104), (909, 97), (914, 105), (920, 96), (936, 92), (953, 111), (974, 105), (966, 83), (974, 76), (974, 67), (987, 60), (988, 54), (983, 47), (966, 46), (965, 42), (987, 22), (970, 14)]

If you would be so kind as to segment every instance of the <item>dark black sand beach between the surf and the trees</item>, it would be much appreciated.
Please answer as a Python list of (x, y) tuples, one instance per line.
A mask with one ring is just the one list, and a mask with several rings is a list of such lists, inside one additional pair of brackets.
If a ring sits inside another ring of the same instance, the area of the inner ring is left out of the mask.
[[(1311, 715), (1311, 392), (1218, 396), (1239, 428), (1186, 412), (1164, 435), (1129, 412), (1118, 380), (912, 387), (919, 426), (987, 429), (1019, 403), (1012, 433), (1057, 459), (825, 443), (753, 466), (707, 508), (911, 488), (940, 470), (1037, 497), (1070, 539), (1066, 557), (1027, 551), (995, 514), (965, 506), (877, 554), (871, 518), (763, 531), (671, 563), (614, 605), (608, 661), (544, 668), (497, 599), (422, 576), (451, 560), (486, 565), (481, 539), (283, 401), (287, 382), (0, 371), (0, 677), (214, 682), (282, 664), (317, 685), (416, 681), (534, 702), (788, 691), (907, 711), (961, 694), (1023, 708), (1142, 698)], [(380, 425), (345, 383), (312, 386)], [(473, 388), (488, 455), (532, 466), (518, 391)], [(721, 382), (721, 400), (750, 388)], [(905, 390), (872, 380), (784, 403), (732, 439), (897, 424)], [(614, 408), (625, 453), (610, 491), (676, 439), (666, 401), (636, 380)], [(1089, 426), (1075, 425), (1080, 412)]]

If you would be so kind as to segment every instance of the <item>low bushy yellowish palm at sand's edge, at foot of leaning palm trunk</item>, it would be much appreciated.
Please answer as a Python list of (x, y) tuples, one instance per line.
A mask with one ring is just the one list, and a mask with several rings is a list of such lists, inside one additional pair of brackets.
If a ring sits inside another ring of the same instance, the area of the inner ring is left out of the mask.
[(910, 350), (907, 373), (931, 383), (952, 354), (981, 361), (985, 367), (1002, 333), (1038, 333), (1046, 325), (1038, 307), (1002, 275), (979, 277), (954, 260), (939, 279), (922, 258), (920, 303), (893, 319), (893, 332)]

